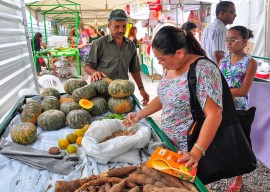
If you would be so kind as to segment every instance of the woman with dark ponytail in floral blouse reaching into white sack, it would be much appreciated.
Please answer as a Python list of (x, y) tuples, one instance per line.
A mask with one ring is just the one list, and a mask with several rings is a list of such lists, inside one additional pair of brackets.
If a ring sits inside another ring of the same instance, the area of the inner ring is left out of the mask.
[[(123, 124), (127, 127), (162, 109), (161, 129), (187, 161), (197, 167), (207, 152), (222, 119), (222, 81), (219, 68), (206, 58), (204, 50), (192, 33), (173, 27), (162, 27), (152, 42), (159, 64), (165, 68), (155, 97), (137, 113), (129, 113)], [(199, 60), (198, 60), (199, 59)], [(196, 62), (197, 95), (205, 114), (196, 145), (187, 147), (188, 129), (193, 123), (188, 88), (188, 70)], [(207, 155), (207, 154), (206, 154)]]

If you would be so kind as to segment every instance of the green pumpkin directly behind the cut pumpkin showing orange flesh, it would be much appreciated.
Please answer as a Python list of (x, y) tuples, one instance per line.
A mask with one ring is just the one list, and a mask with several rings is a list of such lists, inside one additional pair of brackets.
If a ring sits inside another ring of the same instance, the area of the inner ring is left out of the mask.
[(96, 96), (96, 89), (91, 85), (78, 88), (73, 91), (72, 97), (75, 102), (79, 102), (81, 99), (91, 99)]

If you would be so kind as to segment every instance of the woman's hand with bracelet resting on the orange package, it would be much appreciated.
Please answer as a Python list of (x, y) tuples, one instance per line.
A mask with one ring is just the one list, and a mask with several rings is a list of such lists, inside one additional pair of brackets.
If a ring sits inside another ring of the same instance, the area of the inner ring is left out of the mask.
[(177, 160), (178, 163), (187, 162), (185, 165), (187, 167), (196, 168), (198, 166), (199, 160), (201, 159), (201, 154), (194, 152), (178, 151), (178, 154), (183, 155)]

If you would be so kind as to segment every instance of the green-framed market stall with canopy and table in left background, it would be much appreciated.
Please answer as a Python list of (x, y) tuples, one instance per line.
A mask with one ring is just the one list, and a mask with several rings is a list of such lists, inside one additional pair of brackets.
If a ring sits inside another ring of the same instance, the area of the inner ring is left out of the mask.
[[(79, 4), (74, 3), (72, 1), (68, 1), (65, 4), (61, 4), (60, 2), (55, 2), (53, 4), (43, 4), (40, 2), (33, 2), (27, 5), (29, 10), (40, 9), (40, 14), (43, 15), (44, 21), (44, 34), (45, 34), (45, 43), (48, 45), (48, 36), (47, 36), (47, 28), (46, 28), (46, 17), (49, 16), (51, 20), (58, 22), (60, 25), (66, 25), (66, 27), (75, 27), (78, 29), (80, 18), (79, 18)], [(30, 11), (30, 30), (32, 35), (32, 46), (34, 45), (34, 32), (32, 28), (32, 14)], [(67, 44), (67, 43), (66, 43)], [(59, 45), (60, 47), (48, 47), (47, 49), (36, 52), (32, 47), (33, 55), (34, 55), (34, 63), (36, 63), (37, 58), (43, 57), (47, 58), (48, 61), (51, 58), (55, 57), (75, 57), (76, 58), (76, 74), (77, 77), (81, 75), (81, 62), (79, 56), (78, 48), (68, 48), (63, 47), (63, 45)], [(78, 31), (76, 35), (76, 47), (78, 47)], [(35, 66), (36, 67), (36, 66)], [(50, 69), (50, 63), (48, 62), (48, 69)]]

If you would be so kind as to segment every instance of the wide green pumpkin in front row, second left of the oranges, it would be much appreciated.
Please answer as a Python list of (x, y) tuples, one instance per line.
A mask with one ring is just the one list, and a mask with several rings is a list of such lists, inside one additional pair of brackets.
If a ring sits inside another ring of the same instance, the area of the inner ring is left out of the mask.
[(56, 130), (65, 126), (66, 117), (62, 111), (51, 109), (41, 113), (37, 122), (42, 130)]

